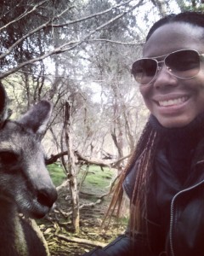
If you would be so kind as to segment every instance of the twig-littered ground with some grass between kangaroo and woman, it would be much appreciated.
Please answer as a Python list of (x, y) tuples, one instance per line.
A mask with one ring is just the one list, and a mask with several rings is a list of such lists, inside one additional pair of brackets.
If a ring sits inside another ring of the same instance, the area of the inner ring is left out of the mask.
[[(89, 179), (92, 182), (83, 184), (80, 192), (80, 205), (93, 203), (109, 191), (110, 186), (107, 184), (110, 184), (112, 175), (108, 175), (108, 172), (102, 174), (106, 180), (104, 187), (99, 186), (91, 175)], [(92, 175), (95, 175), (95, 172)], [(94, 207), (83, 207), (80, 210), (80, 232), (76, 234), (71, 230), (71, 217), (67, 218), (62, 215), (63, 212), (67, 212), (71, 203), (69, 189), (67, 187), (59, 189), (57, 208), (49, 214), (47, 219), (38, 222), (48, 241), (51, 256), (82, 255), (98, 244), (105, 246), (116, 236), (122, 234), (126, 229), (126, 218), (120, 225), (111, 221), (108, 230), (101, 228), (110, 200), (111, 195), (105, 196), (104, 200)]]

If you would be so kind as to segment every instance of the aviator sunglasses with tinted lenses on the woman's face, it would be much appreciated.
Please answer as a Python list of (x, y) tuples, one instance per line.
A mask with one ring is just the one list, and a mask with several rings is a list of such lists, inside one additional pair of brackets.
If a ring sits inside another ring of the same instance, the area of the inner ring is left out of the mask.
[[(167, 71), (178, 79), (192, 79), (200, 71), (200, 62), (204, 54), (195, 49), (180, 49), (168, 55), (142, 58), (133, 63), (132, 74), (139, 85), (147, 85), (156, 79), (164, 63)], [(159, 61), (163, 59), (162, 61)]]

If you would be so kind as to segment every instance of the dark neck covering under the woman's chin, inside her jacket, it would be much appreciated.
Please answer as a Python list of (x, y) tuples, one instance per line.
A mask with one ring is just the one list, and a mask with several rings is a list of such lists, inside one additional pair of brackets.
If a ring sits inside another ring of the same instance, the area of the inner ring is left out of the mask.
[(180, 128), (165, 128), (153, 115), (150, 116), (150, 124), (160, 134), (167, 160), (183, 185), (190, 174), (195, 148), (204, 137), (204, 113)]

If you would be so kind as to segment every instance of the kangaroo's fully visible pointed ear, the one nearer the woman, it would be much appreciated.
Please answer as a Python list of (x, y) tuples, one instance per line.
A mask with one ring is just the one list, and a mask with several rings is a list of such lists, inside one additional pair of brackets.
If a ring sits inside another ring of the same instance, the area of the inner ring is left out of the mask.
[(52, 105), (50, 102), (38, 102), (18, 122), (41, 136), (46, 131), (51, 113)]

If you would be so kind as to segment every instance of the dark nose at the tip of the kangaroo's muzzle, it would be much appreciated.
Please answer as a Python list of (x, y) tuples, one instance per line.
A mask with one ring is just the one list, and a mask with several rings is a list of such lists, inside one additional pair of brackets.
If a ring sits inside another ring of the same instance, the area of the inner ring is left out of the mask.
[(37, 201), (43, 206), (51, 208), (56, 200), (56, 189), (40, 189), (37, 191)]

